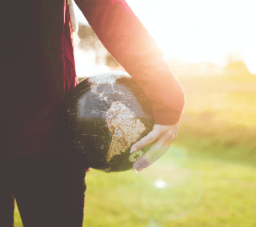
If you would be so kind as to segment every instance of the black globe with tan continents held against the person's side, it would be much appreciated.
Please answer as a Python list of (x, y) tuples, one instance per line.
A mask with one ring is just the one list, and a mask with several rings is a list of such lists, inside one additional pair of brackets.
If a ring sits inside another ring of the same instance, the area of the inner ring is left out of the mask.
[(62, 132), (67, 148), (94, 169), (131, 169), (145, 150), (130, 154), (130, 148), (153, 125), (152, 102), (125, 72), (83, 79), (65, 98)]

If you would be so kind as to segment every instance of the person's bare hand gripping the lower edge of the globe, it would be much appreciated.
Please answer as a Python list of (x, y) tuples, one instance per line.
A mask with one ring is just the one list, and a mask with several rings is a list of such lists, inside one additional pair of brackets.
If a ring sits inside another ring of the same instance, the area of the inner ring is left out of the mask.
[(175, 125), (154, 125), (153, 130), (148, 135), (131, 146), (130, 153), (133, 153), (154, 142), (151, 148), (133, 163), (133, 169), (140, 172), (159, 159), (177, 138), (178, 129), (178, 123)]

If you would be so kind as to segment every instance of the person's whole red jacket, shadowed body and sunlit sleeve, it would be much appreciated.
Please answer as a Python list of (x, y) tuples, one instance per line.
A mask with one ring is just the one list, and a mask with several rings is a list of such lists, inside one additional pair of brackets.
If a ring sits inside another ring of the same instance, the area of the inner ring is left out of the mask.
[[(126, 2), (75, 2), (103, 45), (153, 101), (155, 123), (177, 123), (183, 89)], [(69, 10), (65, 0), (3, 4), (9, 19), (2, 29), (4, 149), (12, 155), (51, 151), (65, 92), (77, 85)]]

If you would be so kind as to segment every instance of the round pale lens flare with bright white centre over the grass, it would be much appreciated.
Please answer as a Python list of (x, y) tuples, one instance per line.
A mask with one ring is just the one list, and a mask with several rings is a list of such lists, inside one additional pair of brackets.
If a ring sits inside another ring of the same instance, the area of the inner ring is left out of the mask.
[(129, 184), (118, 187), (120, 199), (136, 215), (153, 220), (149, 224), (181, 218), (201, 199), (202, 172), (179, 148), (171, 147), (138, 174), (123, 174)]

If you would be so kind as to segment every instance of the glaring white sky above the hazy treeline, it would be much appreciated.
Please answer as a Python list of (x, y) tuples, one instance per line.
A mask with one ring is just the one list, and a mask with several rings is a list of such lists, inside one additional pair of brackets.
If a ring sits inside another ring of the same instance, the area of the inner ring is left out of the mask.
[[(166, 56), (225, 66), (240, 53), (256, 74), (256, 1), (126, 0)], [(81, 12), (78, 22), (85, 24)]]

